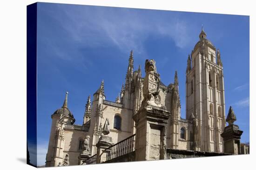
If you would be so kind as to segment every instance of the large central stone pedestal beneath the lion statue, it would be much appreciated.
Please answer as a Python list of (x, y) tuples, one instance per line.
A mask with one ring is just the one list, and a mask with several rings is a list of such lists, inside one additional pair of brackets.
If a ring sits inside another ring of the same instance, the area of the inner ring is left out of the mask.
[(170, 113), (154, 106), (141, 107), (134, 115), (135, 161), (166, 159), (166, 131)]

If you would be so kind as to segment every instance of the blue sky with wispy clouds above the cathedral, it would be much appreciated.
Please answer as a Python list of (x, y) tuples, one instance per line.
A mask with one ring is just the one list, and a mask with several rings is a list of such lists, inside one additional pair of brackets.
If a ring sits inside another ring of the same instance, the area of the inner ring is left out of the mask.
[[(45, 162), (51, 114), (63, 104), (82, 124), (89, 94), (105, 81), (106, 100), (115, 101), (124, 83), (130, 50), (134, 66), (155, 59), (168, 85), (178, 71), (185, 118), (188, 54), (203, 24), (207, 38), (221, 51), (226, 115), (231, 105), (236, 124), (249, 141), (249, 17), (225, 14), (38, 4), (38, 164)], [(142, 76), (144, 76), (144, 72)]]

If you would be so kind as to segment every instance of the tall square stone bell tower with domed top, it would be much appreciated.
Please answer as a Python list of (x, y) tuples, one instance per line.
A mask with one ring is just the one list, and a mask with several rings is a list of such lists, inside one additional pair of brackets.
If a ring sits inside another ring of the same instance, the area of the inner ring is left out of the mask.
[(223, 152), (221, 133), (225, 127), (223, 66), (220, 51), (206, 38), (200, 40), (187, 60), (186, 119), (196, 118), (196, 151)]

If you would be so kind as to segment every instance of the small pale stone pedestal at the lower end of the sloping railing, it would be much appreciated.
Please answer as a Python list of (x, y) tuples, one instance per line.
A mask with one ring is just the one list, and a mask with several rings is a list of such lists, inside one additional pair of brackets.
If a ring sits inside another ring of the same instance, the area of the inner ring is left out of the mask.
[(97, 157), (96, 157), (96, 164), (100, 164), (106, 161), (106, 153), (104, 152), (105, 149), (112, 146), (112, 138), (109, 136), (101, 136), (99, 142), (96, 144), (97, 146)]

